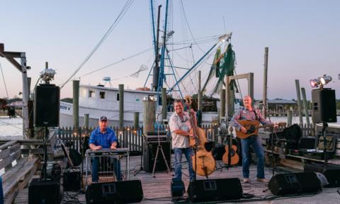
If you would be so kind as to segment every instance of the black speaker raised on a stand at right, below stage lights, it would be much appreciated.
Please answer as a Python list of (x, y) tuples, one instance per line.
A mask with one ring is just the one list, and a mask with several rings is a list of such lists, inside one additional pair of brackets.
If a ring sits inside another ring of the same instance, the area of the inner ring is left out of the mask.
[(312, 90), (312, 120), (314, 123), (336, 123), (335, 90)]

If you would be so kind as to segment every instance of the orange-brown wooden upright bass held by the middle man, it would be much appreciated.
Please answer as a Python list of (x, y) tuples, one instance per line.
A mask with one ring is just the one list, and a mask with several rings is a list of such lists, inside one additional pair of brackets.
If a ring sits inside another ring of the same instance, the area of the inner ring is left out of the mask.
[[(191, 106), (191, 96), (186, 96), (186, 105)], [(212, 152), (208, 151), (205, 145), (208, 143), (205, 132), (202, 128), (197, 127), (195, 118), (196, 115), (190, 112), (191, 137), (189, 137), (190, 146), (194, 149), (197, 147), (196, 153), (192, 156), (193, 171), (200, 176), (208, 177), (216, 169), (216, 162), (212, 156)], [(211, 149), (210, 149), (211, 150)]]

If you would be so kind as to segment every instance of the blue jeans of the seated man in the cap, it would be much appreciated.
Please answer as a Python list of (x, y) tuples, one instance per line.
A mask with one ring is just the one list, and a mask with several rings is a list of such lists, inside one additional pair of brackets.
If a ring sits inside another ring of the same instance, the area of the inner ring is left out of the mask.
[[(109, 166), (113, 166), (113, 170), (115, 171), (115, 177), (117, 179), (117, 181), (122, 181), (122, 174), (120, 172), (120, 161), (119, 159), (115, 159), (115, 158), (108, 158), (108, 159), (101, 159), (101, 162), (105, 163), (105, 164), (101, 164), (101, 166), (106, 166), (105, 168), (110, 168)], [(99, 169), (99, 158), (98, 157), (94, 157), (93, 159), (91, 159), (91, 163), (92, 163), (92, 181), (93, 182), (98, 182), (98, 169)]]

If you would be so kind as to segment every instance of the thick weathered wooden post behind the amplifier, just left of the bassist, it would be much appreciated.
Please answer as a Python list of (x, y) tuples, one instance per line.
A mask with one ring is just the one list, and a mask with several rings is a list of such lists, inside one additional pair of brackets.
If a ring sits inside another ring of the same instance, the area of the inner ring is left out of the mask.
[(156, 100), (154, 96), (147, 96), (144, 101), (143, 109), (143, 132), (154, 131), (154, 120), (156, 118)]

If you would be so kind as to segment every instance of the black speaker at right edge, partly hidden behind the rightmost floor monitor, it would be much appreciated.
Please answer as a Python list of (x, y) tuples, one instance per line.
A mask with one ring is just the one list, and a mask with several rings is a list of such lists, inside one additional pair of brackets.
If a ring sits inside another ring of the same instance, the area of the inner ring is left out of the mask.
[(329, 185), (324, 186), (327, 188), (340, 187), (340, 165), (339, 164), (305, 164), (305, 171), (319, 172), (326, 176)]

